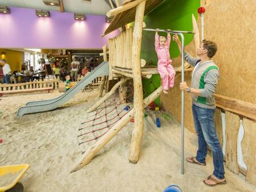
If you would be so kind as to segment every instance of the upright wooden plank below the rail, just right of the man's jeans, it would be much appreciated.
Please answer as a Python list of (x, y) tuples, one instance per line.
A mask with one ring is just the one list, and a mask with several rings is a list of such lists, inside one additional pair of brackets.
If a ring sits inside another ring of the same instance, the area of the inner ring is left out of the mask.
[(226, 111), (226, 167), (238, 174), (237, 136), (240, 127), (240, 117)]

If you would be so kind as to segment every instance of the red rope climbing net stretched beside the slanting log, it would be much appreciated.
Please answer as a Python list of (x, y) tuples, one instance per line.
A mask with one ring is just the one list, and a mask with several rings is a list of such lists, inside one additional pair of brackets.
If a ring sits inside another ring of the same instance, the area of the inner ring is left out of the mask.
[(133, 103), (133, 90), (132, 82), (127, 82), (83, 120), (77, 135), (77, 142), (82, 153), (130, 111), (131, 103)]

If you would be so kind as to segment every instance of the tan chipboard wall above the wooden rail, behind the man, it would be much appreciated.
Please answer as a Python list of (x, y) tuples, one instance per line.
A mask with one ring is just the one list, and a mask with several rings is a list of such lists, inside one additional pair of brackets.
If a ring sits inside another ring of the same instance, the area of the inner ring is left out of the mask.
[[(204, 38), (217, 43), (217, 94), (255, 103), (256, 1), (201, 0)], [(200, 29), (200, 16), (197, 19)]]

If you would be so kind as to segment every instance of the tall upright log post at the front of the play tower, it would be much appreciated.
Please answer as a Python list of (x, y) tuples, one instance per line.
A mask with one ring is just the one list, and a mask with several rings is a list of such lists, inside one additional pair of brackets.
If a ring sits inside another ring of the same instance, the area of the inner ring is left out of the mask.
[(131, 137), (129, 162), (137, 164), (143, 135), (143, 90), (141, 77), (141, 40), (142, 23), (146, 1), (142, 1), (136, 8), (134, 32), (133, 32), (133, 84), (134, 84), (134, 130)]

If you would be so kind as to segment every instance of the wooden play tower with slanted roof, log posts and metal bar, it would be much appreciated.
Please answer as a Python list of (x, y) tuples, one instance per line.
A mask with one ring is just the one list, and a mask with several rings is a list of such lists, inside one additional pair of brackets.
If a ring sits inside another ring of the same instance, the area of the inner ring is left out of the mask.
[[(162, 0), (136, 0), (136, 1), (125, 1), (122, 6), (116, 9), (110, 10), (107, 16), (114, 16), (112, 23), (105, 31), (105, 34), (117, 30), (120, 27), (125, 26), (127, 23), (134, 22), (134, 27), (127, 28), (122, 31), (121, 34), (109, 39), (109, 80), (113, 80), (114, 77), (121, 77), (119, 81), (112, 90), (109, 91), (100, 101), (96, 102), (87, 112), (96, 110), (106, 99), (108, 99), (114, 91), (124, 84), (130, 78), (133, 79), (134, 85), (134, 108), (129, 111), (125, 116), (118, 121), (104, 136), (98, 138), (97, 142), (93, 144), (82, 156), (81, 161), (73, 168), (71, 172), (76, 172), (83, 166), (87, 165), (92, 158), (97, 155), (97, 153), (130, 121), (134, 116), (134, 130), (131, 138), (130, 145), (130, 157), (129, 162), (136, 164), (139, 160), (139, 154), (141, 149), (141, 141), (143, 134), (143, 108), (148, 106), (152, 101), (159, 97), (163, 91), (163, 87), (160, 86), (151, 95), (143, 100), (143, 89), (142, 89), (142, 78), (151, 78), (152, 74), (158, 74), (158, 70), (155, 66), (148, 66), (147, 62), (141, 58), (141, 40), (142, 40), (142, 30), (143, 16), (147, 12), (158, 6)], [(178, 34), (181, 36), (183, 53), (182, 55), (182, 65), (180, 68), (176, 68), (176, 73), (181, 72), (181, 77), (184, 79), (184, 72), (191, 72), (193, 69), (184, 69), (184, 36), (185, 31), (164, 31), (170, 32), (171, 34)], [(193, 32), (187, 32), (193, 33)], [(103, 36), (104, 36), (103, 35)], [(106, 46), (104, 50), (104, 60), (107, 59)], [(187, 65), (187, 68), (189, 66)], [(100, 86), (100, 95), (102, 95), (103, 84)], [(184, 93), (181, 91), (182, 97), (184, 98)], [(184, 108), (184, 99), (183, 99)], [(181, 113), (183, 118), (183, 127), (181, 139), (184, 143), (184, 110)], [(183, 159), (181, 162), (181, 173), (184, 173), (184, 144), (181, 144), (183, 154)]]

